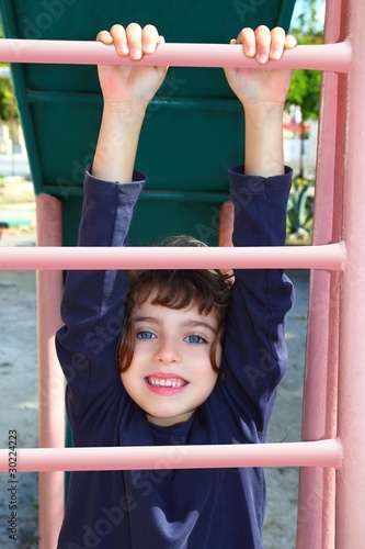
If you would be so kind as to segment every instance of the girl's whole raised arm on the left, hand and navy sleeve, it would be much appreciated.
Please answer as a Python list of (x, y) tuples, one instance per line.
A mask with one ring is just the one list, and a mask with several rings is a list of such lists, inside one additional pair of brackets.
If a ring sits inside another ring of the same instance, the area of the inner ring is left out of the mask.
[[(121, 55), (139, 58), (152, 53), (163, 38), (151, 25), (142, 30), (132, 24), (126, 30), (115, 25), (111, 32), (99, 33), (98, 40)], [(145, 176), (134, 171), (139, 132), (164, 74), (166, 69), (153, 67), (99, 67), (104, 110), (94, 163), (83, 187), (80, 246), (128, 245), (129, 225), (145, 183)], [(88, 421), (99, 425), (103, 414), (98, 406), (107, 399), (114, 402), (121, 391), (115, 356), (126, 291), (121, 270), (67, 274), (61, 306), (65, 325), (56, 345), (68, 382), (67, 410), (73, 433), (88, 410)]]

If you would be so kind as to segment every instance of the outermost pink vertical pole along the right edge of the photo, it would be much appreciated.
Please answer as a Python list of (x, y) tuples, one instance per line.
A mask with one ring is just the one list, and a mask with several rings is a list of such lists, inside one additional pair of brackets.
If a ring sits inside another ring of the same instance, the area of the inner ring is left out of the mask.
[(340, 332), (339, 435), (344, 461), (337, 483), (335, 541), (365, 542), (365, 2), (349, 0), (352, 63), (347, 77), (343, 236), (347, 266), (343, 276)]

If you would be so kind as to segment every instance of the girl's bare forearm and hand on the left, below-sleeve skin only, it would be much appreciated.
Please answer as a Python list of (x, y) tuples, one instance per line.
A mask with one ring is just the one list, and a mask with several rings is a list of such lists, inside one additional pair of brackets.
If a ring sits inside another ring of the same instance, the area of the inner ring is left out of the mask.
[[(137, 23), (117, 24), (102, 31), (98, 40), (118, 55), (138, 60), (163, 42), (157, 29)], [(92, 175), (107, 181), (132, 181), (139, 133), (148, 103), (163, 82), (166, 67), (99, 66), (104, 109)]]

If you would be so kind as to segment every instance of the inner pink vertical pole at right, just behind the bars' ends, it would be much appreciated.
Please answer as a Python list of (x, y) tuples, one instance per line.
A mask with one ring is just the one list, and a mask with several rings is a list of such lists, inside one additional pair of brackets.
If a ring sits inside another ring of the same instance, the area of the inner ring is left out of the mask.
[[(344, 40), (343, 0), (328, 0), (324, 42)], [(313, 245), (339, 242), (342, 220), (345, 77), (323, 72), (318, 135)], [(312, 271), (308, 309), (303, 440), (337, 435), (340, 274)], [(334, 547), (335, 473), (300, 469), (297, 549)]]

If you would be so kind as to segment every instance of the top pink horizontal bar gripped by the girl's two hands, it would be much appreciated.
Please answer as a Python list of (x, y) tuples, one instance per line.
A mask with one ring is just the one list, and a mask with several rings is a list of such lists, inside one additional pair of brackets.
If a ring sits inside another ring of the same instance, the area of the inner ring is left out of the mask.
[[(101, 42), (2, 38), (0, 60), (8, 63), (52, 63), (71, 65), (155, 65), (174, 67), (262, 67), (232, 44), (159, 44), (152, 55), (133, 61), (121, 57), (113, 45)], [(351, 63), (349, 41), (317, 46), (296, 46), (267, 68), (288, 67), (346, 72)]]

